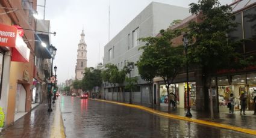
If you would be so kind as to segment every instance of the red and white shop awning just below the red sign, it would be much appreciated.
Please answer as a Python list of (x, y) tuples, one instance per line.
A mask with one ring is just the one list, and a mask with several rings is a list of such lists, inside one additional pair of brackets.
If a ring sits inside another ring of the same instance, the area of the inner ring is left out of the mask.
[(11, 61), (29, 62), (30, 61), (30, 49), (23, 41), (23, 38), (17, 35), (15, 47), (13, 47), (13, 53)]

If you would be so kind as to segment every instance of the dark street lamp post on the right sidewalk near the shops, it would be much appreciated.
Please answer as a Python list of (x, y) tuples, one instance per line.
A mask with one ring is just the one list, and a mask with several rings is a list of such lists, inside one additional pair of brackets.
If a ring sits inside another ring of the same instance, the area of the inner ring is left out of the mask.
[(186, 55), (186, 82), (187, 82), (187, 117), (192, 117), (192, 114), (190, 113), (190, 102), (189, 102), (189, 64), (187, 60), (187, 45), (189, 44), (189, 40), (187, 39), (187, 34), (183, 35), (183, 45), (185, 49), (185, 55)]

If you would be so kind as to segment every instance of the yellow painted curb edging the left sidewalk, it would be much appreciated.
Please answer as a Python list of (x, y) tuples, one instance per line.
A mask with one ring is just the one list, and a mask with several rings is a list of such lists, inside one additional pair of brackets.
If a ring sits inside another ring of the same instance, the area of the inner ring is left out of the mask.
[(65, 138), (64, 125), (62, 115), (60, 112), (60, 103), (56, 102), (56, 109), (54, 115), (54, 124), (51, 127), (51, 138)]

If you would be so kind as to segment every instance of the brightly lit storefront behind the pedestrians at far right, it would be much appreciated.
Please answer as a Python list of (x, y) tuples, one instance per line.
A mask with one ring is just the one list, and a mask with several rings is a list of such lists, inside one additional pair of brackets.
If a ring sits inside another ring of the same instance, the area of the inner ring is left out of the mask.
[[(215, 83), (212, 80), (212, 84)], [(228, 112), (227, 104), (230, 94), (235, 97), (235, 110), (240, 109), (240, 95), (245, 93), (247, 97), (247, 109), (253, 110), (253, 98), (256, 96), (256, 73), (236, 74), (233, 76), (217, 77), (220, 112)]]

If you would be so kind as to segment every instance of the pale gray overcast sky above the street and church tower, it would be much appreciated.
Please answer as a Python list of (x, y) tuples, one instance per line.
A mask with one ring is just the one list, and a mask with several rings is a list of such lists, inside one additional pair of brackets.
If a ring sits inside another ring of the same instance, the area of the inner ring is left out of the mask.
[[(38, 0), (37, 5), (43, 5)], [(120, 32), (152, 0), (110, 0), (110, 40)], [(189, 8), (198, 0), (155, 0), (164, 4)], [(220, 0), (230, 4), (231, 0)], [(87, 67), (102, 62), (104, 46), (108, 42), (109, 0), (46, 0), (45, 19), (51, 20), (52, 44), (57, 47), (54, 65), (59, 83), (75, 77), (76, 51), (81, 31), (84, 29), (87, 44)], [(43, 16), (43, 8), (37, 7)], [(163, 28), (165, 29), (165, 28)]]

